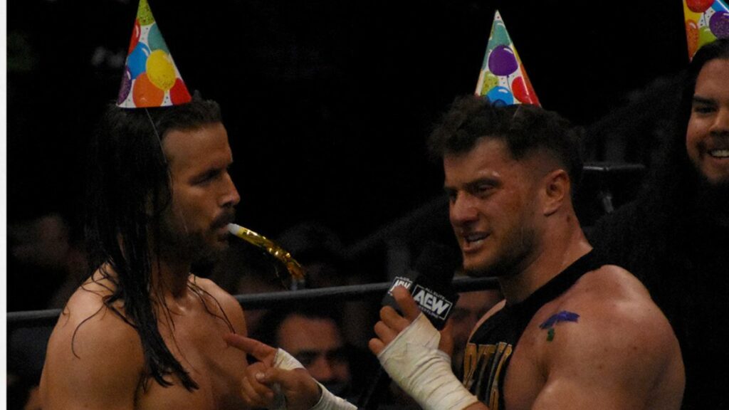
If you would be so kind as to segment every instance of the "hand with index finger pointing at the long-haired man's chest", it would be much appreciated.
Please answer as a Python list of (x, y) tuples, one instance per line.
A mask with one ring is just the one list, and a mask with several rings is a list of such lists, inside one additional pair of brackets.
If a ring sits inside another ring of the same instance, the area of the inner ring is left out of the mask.
[[(286, 397), (286, 409), (311, 409), (319, 401), (319, 385), (304, 368), (281, 368), (276, 365), (276, 356), (286, 354), (260, 341), (230, 333), (224, 336), (228, 345), (252, 355), (260, 362), (246, 368), (241, 384), (243, 400), (249, 406), (272, 408), (276, 406), (275, 386)], [(300, 364), (297, 363), (300, 366)]]

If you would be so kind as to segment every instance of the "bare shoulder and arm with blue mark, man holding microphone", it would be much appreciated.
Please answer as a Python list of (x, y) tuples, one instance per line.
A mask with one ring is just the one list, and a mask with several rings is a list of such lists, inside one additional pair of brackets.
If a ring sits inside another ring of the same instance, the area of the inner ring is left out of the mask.
[(577, 406), (598, 399), (633, 409), (680, 405), (678, 341), (648, 291), (625, 269), (608, 265), (588, 272), (534, 319), (531, 333), (549, 375), (539, 403), (571, 395)]

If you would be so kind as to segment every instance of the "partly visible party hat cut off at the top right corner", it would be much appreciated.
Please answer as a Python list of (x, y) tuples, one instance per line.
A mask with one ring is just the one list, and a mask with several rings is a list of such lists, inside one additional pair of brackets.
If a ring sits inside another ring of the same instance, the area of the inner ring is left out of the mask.
[(701, 46), (729, 37), (729, 7), (722, 0), (683, 0), (688, 58)]

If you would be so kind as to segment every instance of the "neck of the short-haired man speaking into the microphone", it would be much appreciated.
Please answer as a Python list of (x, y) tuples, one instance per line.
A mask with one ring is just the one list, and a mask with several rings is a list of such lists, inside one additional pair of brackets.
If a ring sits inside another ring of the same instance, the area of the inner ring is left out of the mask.
[(534, 252), (524, 260), (517, 274), (499, 277), (507, 303), (519, 303), (528, 298), (592, 249), (574, 214), (563, 218), (566, 225), (561, 229), (545, 229), (542, 240), (535, 244)]

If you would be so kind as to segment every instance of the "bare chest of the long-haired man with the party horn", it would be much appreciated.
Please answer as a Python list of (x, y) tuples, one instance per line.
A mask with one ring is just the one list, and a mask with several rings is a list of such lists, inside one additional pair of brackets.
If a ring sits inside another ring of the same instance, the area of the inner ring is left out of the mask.
[(187, 390), (176, 377), (163, 387), (153, 379), (140, 386), (136, 409), (241, 409), (240, 383), (246, 368), (242, 352), (228, 347), (222, 336), (229, 333), (222, 320), (175, 320), (174, 328), (160, 326), (173, 355), (190, 374), (198, 389)]

